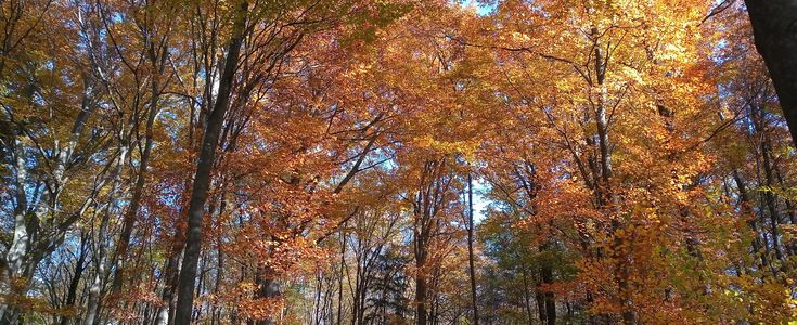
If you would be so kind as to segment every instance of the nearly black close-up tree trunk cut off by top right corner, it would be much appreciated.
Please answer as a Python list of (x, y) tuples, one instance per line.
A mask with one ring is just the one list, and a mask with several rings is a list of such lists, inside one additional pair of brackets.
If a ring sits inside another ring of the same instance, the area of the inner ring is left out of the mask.
[(797, 1), (745, 0), (758, 53), (767, 64), (797, 143)]

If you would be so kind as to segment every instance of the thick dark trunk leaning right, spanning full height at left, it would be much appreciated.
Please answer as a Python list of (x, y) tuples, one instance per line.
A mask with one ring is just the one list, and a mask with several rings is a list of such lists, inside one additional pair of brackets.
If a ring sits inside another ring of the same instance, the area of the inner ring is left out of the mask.
[(205, 214), (205, 200), (207, 199), (207, 192), (210, 186), (210, 172), (216, 160), (219, 133), (230, 103), (230, 93), (237, 68), (239, 54), (241, 53), (241, 46), (246, 32), (247, 10), (248, 3), (243, 1), (234, 16), (232, 39), (227, 51), (224, 70), (219, 81), (218, 96), (214, 109), (207, 118), (207, 127), (202, 139), (200, 159), (196, 165), (191, 203), (189, 204), (188, 210), (185, 251), (178, 283), (177, 311), (175, 314), (175, 324), (178, 325), (189, 325), (191, 323), (196, 266), (200, 259), (200, 249), (202, 248), (202, 219)]

